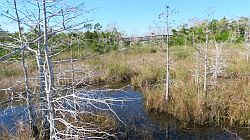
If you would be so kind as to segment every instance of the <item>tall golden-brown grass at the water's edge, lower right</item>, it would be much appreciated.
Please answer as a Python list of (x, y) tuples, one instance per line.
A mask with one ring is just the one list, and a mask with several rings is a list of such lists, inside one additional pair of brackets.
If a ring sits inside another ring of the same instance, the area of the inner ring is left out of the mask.
[[(172, 114), (187, 123), (249, 125), (250, 89), (244, 82), (228, 81), (205, 96), (202, 92), (197, 93), (192, 80), (179, 81), (178, 86), (172, 87), (168, 103), (164, 100), (164, 88), (146, 89), (143, 93), (149, 110)], [(230, 88), (229, 83), (232, 84)]]

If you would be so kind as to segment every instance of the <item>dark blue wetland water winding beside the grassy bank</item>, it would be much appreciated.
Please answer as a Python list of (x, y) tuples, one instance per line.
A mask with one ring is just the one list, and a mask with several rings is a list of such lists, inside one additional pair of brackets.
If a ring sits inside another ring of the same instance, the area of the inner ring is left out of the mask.
[[(148, 112), (143, 106), (142, 95), (127, 87), (124, 91), (102, 92), (101, 96), (130, 98), (133, 101), (112, 106), (119, 118), (127, 125), (117, 128), (118, 139), (157, 139), (157, 140), (235, 140), (250, 139), (250, 129), (218, 128), (215, 126), (185, 126), (166, 114)], [(14, 127), (14, 122), (24, 118), (22, 106), (0, 110), (0, 124)]]

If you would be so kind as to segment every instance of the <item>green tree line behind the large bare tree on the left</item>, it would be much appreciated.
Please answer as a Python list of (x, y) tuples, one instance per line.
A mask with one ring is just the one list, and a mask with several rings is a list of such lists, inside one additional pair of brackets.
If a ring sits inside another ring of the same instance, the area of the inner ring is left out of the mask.
[[(122, 33), (118, 31), (116, 27), (110, 27), (109, 29), (102, 30), (102, 26), (99, 23), (96, 24), (85, 24), (84, 28), (86, 31), (71, 31), (71, 32), (59, 32), (56, 34), (49, 34), (48, 39), (49, 42), (53, 44), (57, 44), (54, 47), (54, 52), (63, 50), (63, 49), (73, 49), (77, 50), (79, 47), (81, 49), (85, 49), (87, 51), (91, 51), (93, 53), (103, 54), (110, 51), (118, 50), (119, 40), (122, 36)], [(33, 40), (36, 38), (38, 33), (38, 28), (34, 27), (29, 29), (29, 31), (23, 31), (23, 34), (26, 36), (27, 40)], [(49, 32), (53, 32), (53, 29), (50, 28)], [(0, 30), (0, 42), (2, 43), (12, 43), (15, 40), (13, 38), (18, 37), (18, 32), (8, 32), (4, 30)], [(67, 40), (73, 40), (71, 48), (67, 48), (66, 45)], [(58, 45), (59, 44), (59, 45)], [(37, 48), (36, 44), (31, 45), (32, 48)], [(9, 49), (7, 47), (2, 46), (0, 48), (0, 56), (3, 56), (9, 53)], [(12, 57), (17, 58), (19, 55), (13, 55)]]

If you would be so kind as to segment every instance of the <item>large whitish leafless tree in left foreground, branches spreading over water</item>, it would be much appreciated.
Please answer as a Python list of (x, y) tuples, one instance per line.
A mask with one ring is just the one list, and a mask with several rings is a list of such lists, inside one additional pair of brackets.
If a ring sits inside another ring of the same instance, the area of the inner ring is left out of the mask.
[[(51, 50), (58, 46), (52, 46), (53, 42), (51, 42), (50, 39), (60, 32), (70, 32), (84, 28), (84, 24), (90, 20), (80, 20), (80, 17), (84, 17), (84, 14), (89, 11), (81, 9), (83, 6), (81, 3), (72, 6), (67, 5), (67, 3), (63, 1), (48, 2), (46, 0), (27, 0), (22, 3), (24, 4), (22, 8), (18, 8), (16, 0), (13, 0), (13, 3), (14, 4), (11, 5), (14, 9), (15, 16), (13, 13), (4, 13), (2, 15), (17, 22), (19, 37), (11, 37), (15, 40), (13, 43), (1, 43), (1, 47), (8, 48), (11, 52), (1, 57), (0, 60), (5, 61), (14, 54), (22, 54), (24, 81), (26, 85), (25, 94), (33, 137), (38, 137), (38, 132), (35, 130), (37, 119), (41, 119), (42, 121), (43, 128), (40, 132), (42, 139), (108, 139), (110, 136), (113, 136), (99, 129), (98, 126), (91, 122), (80, 122), (81, 119), (84, 119), (86, 116), (97, 116), (98, 114), (95, 110), (110, 111), (118, 118), (112, 109), (112, 105), (115, 102), (123, 102), (124, 100), (99, 97), (96, 96), (95, 91), (90, 91), (86, 88), (76, 89), (76, 86), (85, 83), (86, 80), (92, 76), (93, 71), (87, 71), (84, 66), (75, 67), (72, 56), (69, 61), (71, 67), (69, 69), (63, 68), (64, 71), (70, 72), (70, 86), (65, 87), (61, 85), (59, 81), (61, 77), (57, 75), (62, 75), (63, 71), (61, 70), (55, 76), (54, 74), (56, 72), (54, 71), (54, 64), (51, 60), (52, 56), (64, 50), (52, 55)], [(31, 6), (32, 8), (30, 7), (30, 9), (32, 10), (25, 9), (26, 4)], [(29, 38), (27, 34), (22, 33), (22, 26), (34, 29), (36, 31), (34, 37)], [(69, 46), (72, 45), (72, 40), (70, 41), (71, 42), (67, 44)], [(30, 55), (30, 53), (34, 54), (33, 56), (37, 61), (38, 77), (35, 79), (39, 81), (39, 84), (36, 85), (39, 87), (39, 92), (37, 92), (36, 89), (32, 92), (30, 88), (29, 80), (31, 77), (29, 77), (28, 73), (29, 64), (25, 61), (25, 56)], [(71, 55), (73, 55), (72, 53)], [(59, 61), (60, 64), (62, 62), (63, 61)], [(83, 73), (83, 76), (77, 79), (76, 72)], [(56, 77), (59, 77), (59, 79), (55, 79)], [(55, 82), (56, 80), (58, 80), (58, 82)], [(15, 93), (12, 88), (6, 89), (6, 91), (11, 91), (11, 101), (13, 101), (14, 94), (17, 93)], [(35, 100), (33, 98), (37, 97), (36, 93), (39, 93), (40, 96), (40, 108), (33, 110), (34, 107), (32, 107), (32, 104), (34, 103), (32, 103), (32, 101)], [(41, 113), (41, 115), (34, 116), (36, 112), (38, 112), (38, 114)]]

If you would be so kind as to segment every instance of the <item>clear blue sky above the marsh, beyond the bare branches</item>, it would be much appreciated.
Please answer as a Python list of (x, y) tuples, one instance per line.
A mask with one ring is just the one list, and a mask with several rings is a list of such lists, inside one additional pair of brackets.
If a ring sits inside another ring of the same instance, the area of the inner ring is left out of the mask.
[[(0, 0), (0, 11), (3, 6)], [(18, 0), (22, 1), (22, 0)], [(60, 1), (60, 0), (58, 0)], [(67, 0), (65, 0), (67, 1)], [(76, 3), (77, 0), (68, 0)], [(173, 28), (190, 23), (190, 19), (236, 19), (250, 16), (250, 0), (82, 0), (87, 9), (95, 9), (91, 14), (93, 23), (100, 23), (103, 29), (116, 26), (125, 36), (143, 36), (155, 32), (158, 16), (164, 12), (165, 5), (176, 11), (170, 17)], [(4, 9), (2, 11), (5, 11)], [(208, 17), (209, 13), (209, 17)], [(11, 24), (0, 16), (1, 28), (11, 31)], [(13, 27), (12, 27), (13, 26)]]

